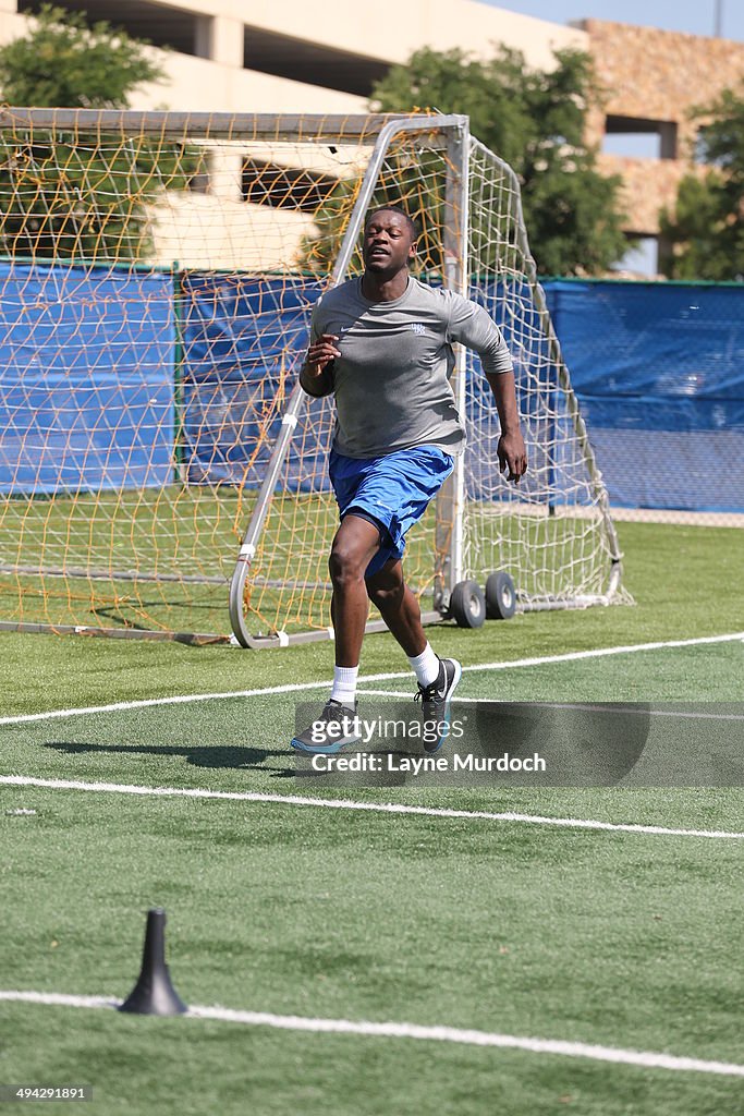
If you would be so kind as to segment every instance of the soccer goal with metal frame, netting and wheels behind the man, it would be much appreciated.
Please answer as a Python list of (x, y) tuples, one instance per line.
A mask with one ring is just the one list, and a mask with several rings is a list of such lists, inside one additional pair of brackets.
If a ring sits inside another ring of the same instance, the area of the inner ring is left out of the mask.
[(361, 270), (381, 203), (416, 221), (421, 278), (503, 330), (530, 458), (509, 485), (460, 352), (467, 449), (406, 558), (426, 619), (477, 625), (486, 585), (495, 616), (629, 599), (519, 183), (466, 117), (10, 108), (0, 627), (332, 638), (334, 405), (297, 377), (312, 305)]

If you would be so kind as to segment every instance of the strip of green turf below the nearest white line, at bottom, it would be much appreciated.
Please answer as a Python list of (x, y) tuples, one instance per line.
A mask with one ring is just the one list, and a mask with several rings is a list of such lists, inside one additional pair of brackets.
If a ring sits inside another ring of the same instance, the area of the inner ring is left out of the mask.
[[(27, 1077), (31, 1072), (45, 1081), (69, 1081), (83, 1075), (94, 1083), (94, 1103), (80, 1110), (106, 1116), (247, 1112), (257, 1116), (493, 1112), (737, 1116), (741, 1112), (738, 1084), (709, 1075), (535, 1059), (513, 1050), (355, 1040), (25, 1004), (3, 1004), (3, 1018), (18, 1046), (27, 1050), (22, 1062)], [(40, 1030), (48, 1038), (41, 1048)]]

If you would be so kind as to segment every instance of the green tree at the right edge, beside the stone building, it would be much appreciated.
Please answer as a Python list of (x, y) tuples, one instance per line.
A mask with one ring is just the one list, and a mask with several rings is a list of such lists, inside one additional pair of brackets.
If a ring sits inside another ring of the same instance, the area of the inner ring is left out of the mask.
[(706, 117), (698, 133), (705, 174), (687, 174), (677, 191), (675, 213), (660, 214), (661, 237), (671, 246), (666, 271), (671, 279), (744, 280), (744, 87), (726, 89), (697, 107)]

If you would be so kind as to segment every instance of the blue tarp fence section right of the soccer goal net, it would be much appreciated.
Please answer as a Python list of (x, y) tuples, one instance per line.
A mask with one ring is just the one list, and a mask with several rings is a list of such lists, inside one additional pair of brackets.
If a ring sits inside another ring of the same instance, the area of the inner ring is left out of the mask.
[(744, 287), (545, 289), (611, 502), (744, 512)]

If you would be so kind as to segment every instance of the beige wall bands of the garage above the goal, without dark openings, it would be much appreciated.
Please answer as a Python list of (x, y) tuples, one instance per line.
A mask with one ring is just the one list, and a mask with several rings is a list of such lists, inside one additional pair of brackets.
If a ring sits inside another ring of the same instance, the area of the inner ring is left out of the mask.
[[(221, 17), (224, 36), (212, 39), (213, 49), (223, 58), (230, 58), (242, 23), (389, 62), (405, 61), (424, 45), (437, 50), (458, 46), (487, 55), (495, 44), (505, 42), (523, 50), (532, 66), (548, 67), (553, 49), (586, 48), (587, 44), (582, 31), (472, 0), (378, 0), (368, 8), (349, 0), (180, 0), (168, 7)], [(15, 9), (16, 0), (0, 0), (0, 42), (25, 33), (27, 19)], [(173, 51), (156, 50), (155, 56), (164, 64), (168, 81), (137, 92), (135, 108), (264, 113), (367, 109), (364, 97), (245, 70), (235, 57), (219, 62)]]

